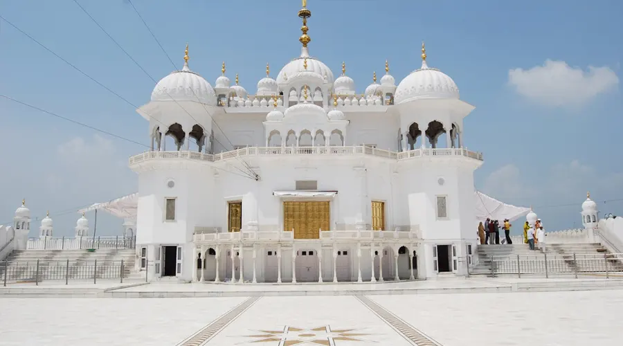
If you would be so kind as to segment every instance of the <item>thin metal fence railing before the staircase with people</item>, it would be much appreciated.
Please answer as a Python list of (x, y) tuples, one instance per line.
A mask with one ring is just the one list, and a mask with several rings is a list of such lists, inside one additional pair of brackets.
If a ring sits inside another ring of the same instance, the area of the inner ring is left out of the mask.
[(577, 278), (578, 275), (623, 274), (623, 253), (489, 256), (482, 261), (488, 262), (491, 275), (575, 275)]

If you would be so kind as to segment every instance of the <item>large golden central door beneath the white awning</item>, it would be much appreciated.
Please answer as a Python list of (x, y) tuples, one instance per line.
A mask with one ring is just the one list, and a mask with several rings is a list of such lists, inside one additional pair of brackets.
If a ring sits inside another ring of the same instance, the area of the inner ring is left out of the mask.
[(329, 230), (330, 202), (283, 202), (283, 228), (294, 229), (294, 239), (318, 239)]

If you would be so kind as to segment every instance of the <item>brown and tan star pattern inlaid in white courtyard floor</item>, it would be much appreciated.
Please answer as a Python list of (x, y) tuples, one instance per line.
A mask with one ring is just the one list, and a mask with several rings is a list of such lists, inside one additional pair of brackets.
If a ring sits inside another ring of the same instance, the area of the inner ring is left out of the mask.
[[(361, 341), (376, 343), (371, 340), (364, 340), (361, 336), (371, 334), (356, 333), (356, 329), (335, 329), (329, 325), (316, 328), (299, 328), (285, 326), (283, 330), (255, 330), (258, 334), (246, 335), (247, 338), (255, 338), (251, 343), (273, 343), (276, 346), (292, 345), (322, 345), (336, 346), (336, 341)], [(245, 342), (246, 343), (246, 342)]]

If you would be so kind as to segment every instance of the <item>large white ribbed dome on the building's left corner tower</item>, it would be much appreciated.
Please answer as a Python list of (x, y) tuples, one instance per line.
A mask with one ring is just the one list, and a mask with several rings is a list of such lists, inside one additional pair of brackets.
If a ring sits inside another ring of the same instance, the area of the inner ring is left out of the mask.
[(217, 103), (214, 89), (198, 73), (190, 71), (188, 63), (181, 71), (174, 71), (161, 79), (154, 91), (152, 101), (195, 101), (215, 106)]

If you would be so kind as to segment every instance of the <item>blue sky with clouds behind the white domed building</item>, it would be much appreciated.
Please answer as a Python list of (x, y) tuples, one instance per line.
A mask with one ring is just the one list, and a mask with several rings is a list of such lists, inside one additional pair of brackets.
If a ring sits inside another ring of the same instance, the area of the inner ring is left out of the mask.
[[(78, 1), (153, 78), (174, 69), (127, 0)], [(298, 0), (132, 2), (177, 68), (188, 42), (191, 68), (210, 83), (226, 61), (228, 76), (239, 73), (253, 92), (267, 62), (274, 77), (300, 51)], [(308, 8), (311, 54), (335, 74), (345, 61), (359, 92), (386, 59), (397, 82), (417, 69), (426, 41), (428, 65), (476, 106), (464, 143), (485, 154), (479, 190), (534, 206), (549, 230), (581, 226), (587, 190), (598, 202), (623, 198), (615, 151), (623, 125), (621, 1), (309, 0)], [(132, 104), (149, 100), (154, 82), (73, 0), (3, 1), (0, 14)], [(131, 105), (4, 21), (0, 93), (148, 143), (147, 123)], [(72, 210), (136, 190), (127, 157), (145, 148), (3, 98), (0, 114), (0, 222), (10, 222), (26, 197), (34, 217), (51, 211), (55, 235), (72, 235)], [(623, 201), (598, 206), (623, 214)], [(98, 233), (120, 232), (120, 221), (98, 217)]]

